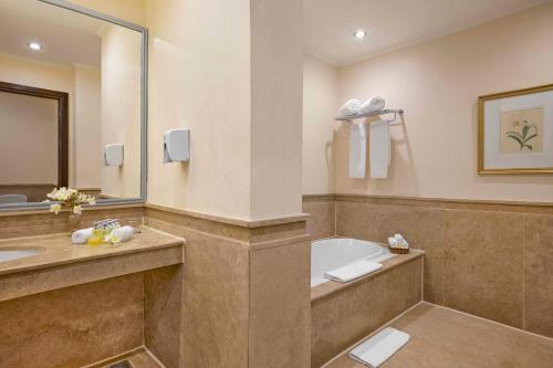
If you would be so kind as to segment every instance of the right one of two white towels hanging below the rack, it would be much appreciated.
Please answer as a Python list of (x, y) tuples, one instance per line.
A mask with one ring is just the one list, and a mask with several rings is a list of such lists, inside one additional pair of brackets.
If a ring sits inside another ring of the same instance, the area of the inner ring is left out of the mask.
[(369, 139), (371, 178), (385, 179), (390, 161), (389, 122), (371, 123)]

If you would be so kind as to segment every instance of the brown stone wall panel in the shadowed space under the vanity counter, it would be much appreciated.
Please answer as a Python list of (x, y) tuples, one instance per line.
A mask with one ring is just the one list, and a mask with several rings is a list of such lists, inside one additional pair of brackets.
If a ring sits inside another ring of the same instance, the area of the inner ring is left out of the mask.
[(0, 303), (2, 368), (77, 368), (143, 344), (143, 275)]

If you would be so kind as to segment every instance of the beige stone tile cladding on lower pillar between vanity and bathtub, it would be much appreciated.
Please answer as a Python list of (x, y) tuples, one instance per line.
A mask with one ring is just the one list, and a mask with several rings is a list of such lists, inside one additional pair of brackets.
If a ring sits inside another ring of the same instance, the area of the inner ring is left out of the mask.
[(304, 220), (254, 228), (148, 208), (185, 244), (182, 367), (309, 367)]

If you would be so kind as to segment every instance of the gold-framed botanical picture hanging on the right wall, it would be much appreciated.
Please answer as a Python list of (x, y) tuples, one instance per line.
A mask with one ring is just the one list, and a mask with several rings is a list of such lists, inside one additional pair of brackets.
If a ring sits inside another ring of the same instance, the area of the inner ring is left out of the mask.
[(478, 174), (553, 174), (553, 84), (478, 97)]

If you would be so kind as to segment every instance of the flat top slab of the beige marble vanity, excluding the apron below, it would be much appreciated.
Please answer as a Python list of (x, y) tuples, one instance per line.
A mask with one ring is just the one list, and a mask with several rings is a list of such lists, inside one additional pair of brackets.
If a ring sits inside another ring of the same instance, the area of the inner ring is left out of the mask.
[(140, 231), (134, 239), (115, 248), (72, 245), (69, 233), (0, 240), (0, 250), (40, 249), (39, 253), (31, 256), (0, 262), (0, 276), (184, 244), (182, 239), (148, 227), (140, 227)]

